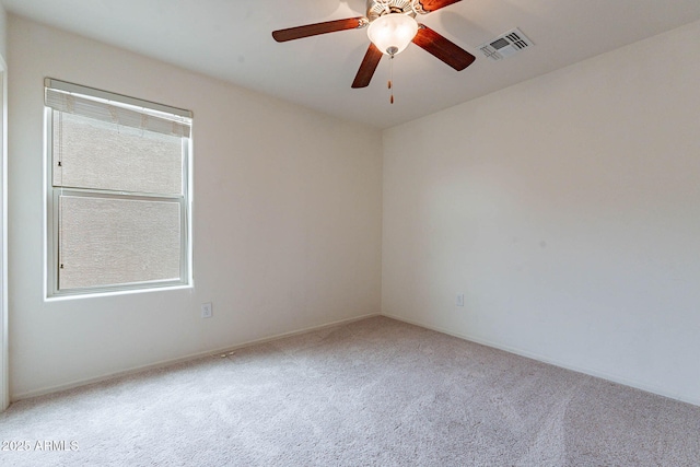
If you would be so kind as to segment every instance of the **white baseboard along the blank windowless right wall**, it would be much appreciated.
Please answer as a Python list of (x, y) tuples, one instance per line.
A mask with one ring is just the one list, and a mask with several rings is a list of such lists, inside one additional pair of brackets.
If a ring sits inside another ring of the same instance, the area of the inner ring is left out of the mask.
[(571, 365), (568, 364), (565, 362), (560, 362), (558, 360), (553, 360), (550, 359), (548, 357), (545, 355), (540, 355), (538, 353), (535, 352), (529, 352), (527, 350), (523, 350), (523, 349), (518, 349), (515, 347), (511, 347), (508, 345), (503, 345), (501, 342), (495, 342), (495, 341), (490, 341), (487, 339), (480, 339), (478, 337), (474, 337), (470, 335), (466, 335), (466, 334), (460, 334), (460, 332), (454, 332), (450, 329), (444, 329), (441, 328), (440, 326), (431, 326), (428, 325), (425, 323), (422, 322), (418, 322), (418, 320), (412, 320), (412, 319), (406, 319), (401, 316), (396, 316), (396, 315), (392, 315), (388, 313), (383, 313), (382, 316), (386, 316), (387, 318), (392, 318), (392, 319), (396, 319), (399, 322), (404, 322), (404, 323), (408, 323), (415, 326), (420, 326), (422, 328), (425, 329), (431, 329), (438, 332), (442, 332), (442, 334), (446, 334), (448, 336), (454, 336), (457, 337), (459, 339), (464, 339), (464, 340), (468, 340), (470, 342), (476, 342), (476, 343), (480, 343), (482, 346), (487, 346), (487, 347), (492, 347), (494, 349), (499, 349), (499, 350), (503, 350), (505, 352), (509, 353), (514, 353), (516, 355), (521, 355), (521, 357), (526, 357), (528, 359), (533, 359), (533, 360), (537, 360), (538, 362), (542, 362), (542, 363), (547, 363), (553, 366), (559, 366), (561, 369), (565, 369), (565, 370), (570, 370), (570, 371), (574, 371), (576, 373), (583, 373), (586, 374), (588, 376), (595, 376), (595, 377), (599, 377), (602, 380), (606, 380), (612, 383), (617, 383), (617, 384), (621, 384), (623, 386), (629, 386), (629, 387), (633, 387), (635, 389), (640, 389), (640, 390), (644, 390), (646, 393), (652, 393), (652, 394), (656, 394), (658, 396), (663, 396), (663, 397), (667, 397), (669, 399), (675, 399), (675, 400), (679, 400), (681, 402), (686, 402), (686, 404), (691, 404), (693, 406), (699, 406), (700, 407), (700, 399), (695, 399), (695, 398), (689, 398), (689, 397), (685, 397), (675, 393), (669, 393), (667, 390), (661, 389), (658, 387), (654, 387), (634, 380), (628, 380), (625, 377), (619, 377), (617, 375), (614, 374), (609, 374), (606, 372), (600, 372), (594, 369), (588, 369), (588, 367), (583, 367), (583, 366), (578, 366), (578, 365)]

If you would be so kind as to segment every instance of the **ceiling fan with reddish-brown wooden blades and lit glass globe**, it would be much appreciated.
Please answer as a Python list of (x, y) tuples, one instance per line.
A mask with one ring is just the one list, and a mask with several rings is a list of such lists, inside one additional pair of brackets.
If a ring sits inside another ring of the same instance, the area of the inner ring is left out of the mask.
[[(370, 47), (354, 77), (352, 87), (366, 87), (383, 55), (394, 58), (411, 42), (444, 61), (457, 71), (474, 62), (475, 56), (416, 21), (418, 14), (428, 14), (462, 0), (368, 0), (366, 16), (326, 21), (289, 27), (272, 33), (278, 43), (301, 39), (319, 34), (368, 27)], [(389, 82), (390, 86), (390, 82)]]

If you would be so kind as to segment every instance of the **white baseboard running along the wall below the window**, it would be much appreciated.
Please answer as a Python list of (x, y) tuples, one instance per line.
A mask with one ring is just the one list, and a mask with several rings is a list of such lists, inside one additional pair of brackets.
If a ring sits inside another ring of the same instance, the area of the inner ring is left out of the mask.
[(16, 402), (16, 401), (24, 400), (24, 399), (31, 399), (31, 398), (34, 398), (34, 397), (46, 396), (48, 394), (60, 393), (62, 390), (73, 389), (73, 388), (80, 387), (80, 386), (86, 386), (89, 384), (102, 383), (102, 382), (114, 380), (114, 378), (118, 378), (118, 377), (121, 377), (121, 376), (142, 373), (142, 372), (145, 372), (145, 371), (149, 371), (149, 370), (163, 369), (163, 367), (167, 367), (167, 366), (175, 365), (175, 364), (178, 364), (178, 363), (185, 363), (185, 362), (188, 362), (188, 361), (191, 361), (191, 360), (201, 359), (203, 357), (219, 355), (219, 354), (222, 354), (222, 353), (232, 352), (232, 351), (237, 350), (237, 349), (243, 349), (245, 347), (256, 346), (256, 345), (265, 343), (265, 342), (271, 342), (273, 340), (284, 339), (287, 337), (298, 336), (300, 334), (311, 332), (311, 331), (315, 331), (315, 330), (327, 329), (327, 328), (334, 327), (334, 326), (341, 326), (341, 325), (359, 322), (361, 319), (366, 319), (366, 318), (371, 318), (371, 317), (380, 316), (380, 315), (381, 315), (380, 313), (370, 313), (370, 314), (362, 315), (362, 316), (354, 316), (352, 318), (339, 319), (337, 322), (326, 323), (326, 324), (318, 325), (318, 326), (310, 326), (310, 327), (306, 327), (306, 328), (303, 328), (303, 329), (298, 329), (298, 330), (293, 330), (293, 331), (289, 331), (289, 332), (282, 332), (282, 334), (278, 334), (278, 335), (273, 335), (273, 336), (268, 336), (268, 337), (264, 337), (261, 339), (249, 340), (249, 341), (246, 341), (246, 342), (243, 342), (243, 343), (237, 343), (237, 345), (234, 345), (234, 346), (228, 346), (228, 347), (224, 347), (224, 348), (219, 348), (219, 349), (213, 349), (213, 350), (206, 350), (203, 352), (190, 353), (190, 354), (187, 354), (185, 357), (179, 357), (177, 359), (162, 360), (160, 362), (149, 363), (147, 365), (136, 366), (136, 367), (128, 369), (128, 370), (122, 370), (122, 371), (119, 371), (119, 372), (106, 373), (106, 374), (103, 374), (103, 375), (100, 375), (100, 376), (95, 376), (95, 377), (91, 377), (91, 378), (86, 378), (86, 380), (77, 380), (77, 381), (73, 381), (71, 383), (60, 384), (60, 385), (57, 385), (57, 386), (49, 386), (49, 387), (45, 387), (45, 388), (36, 389), (36, 390), (28, 390), (28, 392), (16, 394), (16, 395), (13, 394), (12, 397), (11, 397), (11, 401), (12, 402)]

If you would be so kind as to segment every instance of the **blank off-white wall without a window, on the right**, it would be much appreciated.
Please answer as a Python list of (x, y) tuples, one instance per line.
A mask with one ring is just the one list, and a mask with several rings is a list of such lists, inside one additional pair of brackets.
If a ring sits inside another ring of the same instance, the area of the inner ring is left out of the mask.
[(383, 313), (700, 405), (689, 44), (700, 23), (387, 130)]

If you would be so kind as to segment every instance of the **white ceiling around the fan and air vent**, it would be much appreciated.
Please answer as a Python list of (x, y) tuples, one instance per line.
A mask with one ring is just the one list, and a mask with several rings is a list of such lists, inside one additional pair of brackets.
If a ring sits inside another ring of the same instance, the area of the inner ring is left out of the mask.
[[(278, 44), (273, 30), (364, 15), (365, 0), (1, 0), (25, 17), (341, 118), (388, 128), (700, 19), (699, 0), (464, 0), (419, 21), (470, 51), (457, 72), (411, 45), (350, 87), (365, 30)], [(535, 47), (491, 61), (480, 44), (520, 27)], [(688, 45), (696, 47), (697, 45)]]

